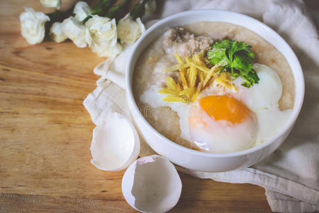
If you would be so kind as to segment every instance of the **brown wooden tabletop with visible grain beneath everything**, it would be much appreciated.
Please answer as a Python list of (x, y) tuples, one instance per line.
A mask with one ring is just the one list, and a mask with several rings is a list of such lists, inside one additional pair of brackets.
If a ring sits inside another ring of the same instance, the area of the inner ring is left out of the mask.
[[(0, 212), (135, 212), (121, 192), (123, 171), (89, 162), (94, 124), (82, 102), (103, 58), (69, 41), (28, 45), (23, 6), (49, 11), (38, 0), (0, 1)], [(180, 175), (171, 212), (270, 211), (262, 187)]]

